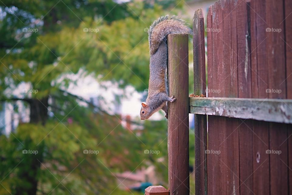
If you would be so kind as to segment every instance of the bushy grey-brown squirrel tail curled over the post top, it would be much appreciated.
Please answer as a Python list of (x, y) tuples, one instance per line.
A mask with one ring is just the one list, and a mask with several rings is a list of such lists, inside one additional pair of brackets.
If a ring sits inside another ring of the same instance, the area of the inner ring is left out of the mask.
[(192, 34), (192, 30), (186, 26), (186, 22), (177, 16), (161, 16), (155, 20), (148, 30), (150, 55), (153, 55), (163, 39), (168, 34)]

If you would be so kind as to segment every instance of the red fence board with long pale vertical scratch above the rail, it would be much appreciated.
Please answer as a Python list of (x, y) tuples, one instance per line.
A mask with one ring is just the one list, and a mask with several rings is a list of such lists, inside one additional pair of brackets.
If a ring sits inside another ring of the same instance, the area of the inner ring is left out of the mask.
[[(241, 1), (237, 7), (238, 97), (251, 98), (250, 2)], [(239, 164), (240, 193), (253, 194), (252, 181), (252, 121), (240, 120)]]

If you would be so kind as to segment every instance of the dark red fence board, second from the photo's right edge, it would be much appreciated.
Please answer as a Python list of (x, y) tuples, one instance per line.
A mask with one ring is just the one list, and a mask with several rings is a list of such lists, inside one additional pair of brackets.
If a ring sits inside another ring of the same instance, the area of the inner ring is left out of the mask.
[[(269, 72), (269, 89), (281, 90), (281, 93), (269, 93), (269, 98), (286, 98), (285, 35), (283, 1), (266, 1), (267, 28), (267, 62)], [(274, 30), (273, 30), (274, 29)], [(281, 29), (281, 30), (280, 30)], [(281, 151), (280, 155), (270, 154), (270, 193), (286, 194), (288, 192), (287, 173), (287, 126), (270, 123), (270, 150)], [(286, 141), (285, 141), (286, 140)]]

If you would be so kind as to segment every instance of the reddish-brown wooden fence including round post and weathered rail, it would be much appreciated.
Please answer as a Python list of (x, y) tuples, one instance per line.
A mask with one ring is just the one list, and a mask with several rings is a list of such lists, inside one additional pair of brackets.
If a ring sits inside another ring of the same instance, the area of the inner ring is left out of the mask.
[[(189, 194), (185, 107), (195, 114), (195, 194), (292, 194), (291, 47), (291, 0), (221, 0), (209, 8), (207, 28), (202, 10), (195, 12), (194, 94), (207, 97), (170, 104), (169, 191), (162, 194)], [(177, 66), (185, 52), (169, 48), (175, 96), (187, 90), (188, 67)]]

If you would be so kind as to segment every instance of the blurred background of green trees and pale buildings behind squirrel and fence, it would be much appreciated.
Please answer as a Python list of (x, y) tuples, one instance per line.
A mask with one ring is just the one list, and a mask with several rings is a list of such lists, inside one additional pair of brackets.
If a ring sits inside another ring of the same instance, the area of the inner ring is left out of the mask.
[[(148, 28), (214, 0), (0, 0), (0, 194), (167, 188), (167, 121), (141, 121)], [(192, 37), (189, 93), (193, 93)], [(190, 143), (194, 143), (190, 115)], [(194, 144), (190, 193), (194, 194)]]

